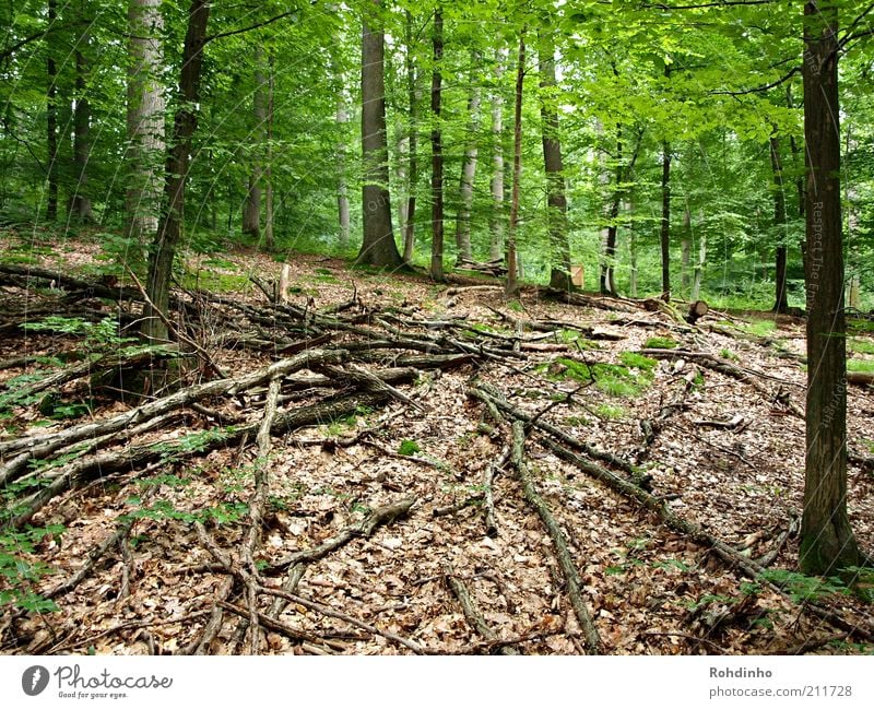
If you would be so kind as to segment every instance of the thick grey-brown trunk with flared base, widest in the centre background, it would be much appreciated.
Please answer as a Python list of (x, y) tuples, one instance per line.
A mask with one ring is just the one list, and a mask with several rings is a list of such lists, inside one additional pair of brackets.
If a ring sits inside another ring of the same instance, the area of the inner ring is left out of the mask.
[(379, 13), (381, 0), (371, 0), (374, 11), (362, 17), (362, 216), (364, 238), (357, 263), (397, 268), (401, 255), (394, 244), (389, 198), (389, 149), (386, 131), (386, 47)]

